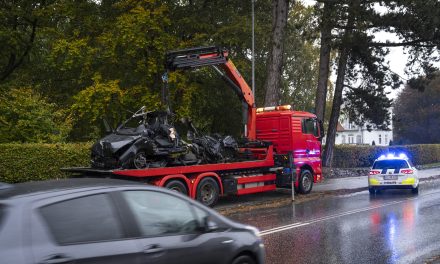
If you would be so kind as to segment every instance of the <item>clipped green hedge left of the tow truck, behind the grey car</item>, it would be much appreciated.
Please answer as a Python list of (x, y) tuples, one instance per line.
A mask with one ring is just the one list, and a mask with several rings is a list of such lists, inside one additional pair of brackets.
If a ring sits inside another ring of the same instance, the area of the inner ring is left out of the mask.
[(0, 181), (65, 178), (60, 168), (90, 165), (90, 143), (0, 144)]

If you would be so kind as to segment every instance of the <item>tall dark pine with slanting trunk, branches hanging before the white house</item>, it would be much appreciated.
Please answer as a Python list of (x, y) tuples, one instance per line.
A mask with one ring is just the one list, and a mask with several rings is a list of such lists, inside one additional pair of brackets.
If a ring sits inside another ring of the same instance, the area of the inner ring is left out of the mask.
[[(338, 78), (323, 159), (324, 165), (328, 165), (331, 162), (344, 89), (350, 89), (347, 92), (346, 100), (352, 101), (349, 101), (346, 105), (351, 108), (350, 115), (355, 117), (358, 124), (368, 121), (377, 122), (375, 125), (379, 127), (386, 127), (389, 123), (389, 115), (384, 108), (388, 107), (390, 102), (384, 98), (383, 89), (385, 86), (396, 88), (401, 83), (399, 78), (389, 71), (384, 61), (384, 56), (388, 52), (386, 48), (408, 46), (411, 47), (414, 56), (414, 60), (410, 61), (409, 64), (415, 65), (415, 62), (426, 61), (429, 57), (429, 49), (432, 51), (436, 41), (438, 41), (438, 37), (432, 34), (432, 32), (435, 32), (432, 25), (438, 24), (438, 19), (435, 18), (436, 12), (431, 12), (426, 17), (432, 24), (427, 25), (424, 23), (423, 18), (427, 9), (423, 5), (428, 4), (431, 9), (438, 9), (439, 6), (438, 1), (428, 1), (423, 4), (414, 4), (414, 1), (405, 0), (377, 2), (322, 0), (320, 2), (325, 3), (325, 6), (327, 4), (332, 6), (333, 12), (323, 12), (330, 17), (322, 19), (321, 30), (328, 30), (328, 24), (324, 25), (324, 23), (330, 21), (330, 28), (336, 33), (332, 35), (332, 45), (339, 53)], [(378, 13), (374, 8), (375, 4), (385, 6), (388, 12), (385, 15)], [(431, 14), (433, 15), (431, 16)], [(424, 33), (426, 32), (425, 29), (418, 29), (419, 26), (430, 26), (431, 35)], [(402, 41), (398, 43), (376, 42), (372, 33), (380, 30), (397, 33)], [(322, 32), (322, 35), (324, 33)], [(328, 42), (326, 43), (328, 44)], [(322, 67), (328, 65), (325, 56), (321, 57), (321, 61)], [(359, 77), (363, 79), (363, 83), (359, 84), (357, 82)], [(320, 78), (325, 78), (325, 74), (320, 75)], [(324, 80), (320, 79), (318, 83), (322, 84)], [(318, 97), (325, 98), (325, 87), (319, 85), (318, 88)], [(318, 102), (320, 100), (317, 100)], [(320, 107), (317, 106), (317, 109)]]

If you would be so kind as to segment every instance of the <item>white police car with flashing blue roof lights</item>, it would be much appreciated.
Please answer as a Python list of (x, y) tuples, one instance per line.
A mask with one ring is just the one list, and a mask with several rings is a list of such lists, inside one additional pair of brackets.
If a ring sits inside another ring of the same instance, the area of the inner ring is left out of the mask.
[(368, 175), (370, 194), (383, 189), (411, 189), (419, 192), (417, 169), (405, 154), (382, 155), (373, 163)]

